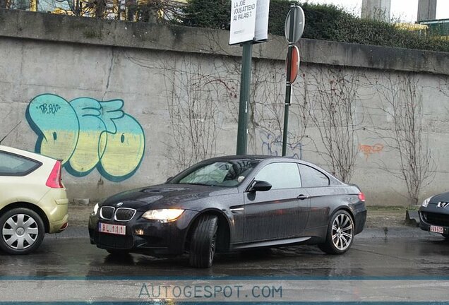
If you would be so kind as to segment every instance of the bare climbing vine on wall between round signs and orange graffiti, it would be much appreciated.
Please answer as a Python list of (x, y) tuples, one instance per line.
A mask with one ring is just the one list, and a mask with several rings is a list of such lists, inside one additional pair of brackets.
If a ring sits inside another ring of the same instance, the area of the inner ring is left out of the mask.
[(360, 78), (357, 71), (318, 66), (306, 74), (304, 85), (305, 98), (311, 102), (305, 110), (323, 145), (318, 153), (333, 174), (345, 182), (354, 174), (357, 126), (363, 121), (363, 117), (356, 117)]

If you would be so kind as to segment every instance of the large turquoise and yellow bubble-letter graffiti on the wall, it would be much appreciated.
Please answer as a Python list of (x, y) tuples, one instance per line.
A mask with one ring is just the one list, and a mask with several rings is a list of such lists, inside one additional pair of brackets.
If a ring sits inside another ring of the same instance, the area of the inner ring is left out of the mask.
[(62, 160), (67, 172), (84, 177), (97, 168), (110, 181), (131, 177), (145, 151), (143, 128), (123, 111), (123, 100), (38, 95), (26, 119), (35, 133), (35, 152)]

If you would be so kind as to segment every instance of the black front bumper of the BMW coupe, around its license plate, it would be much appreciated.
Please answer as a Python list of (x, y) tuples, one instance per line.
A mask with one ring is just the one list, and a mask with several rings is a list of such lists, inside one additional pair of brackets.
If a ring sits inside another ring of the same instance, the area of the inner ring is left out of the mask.
[[(145, 220), (137, 212), (128, 222), (103, 220), (97, 215), (89, 217), (90, 243), (101, 249), (121, 249), (152, 256), (176, 256), (184, 253), (188, 227), (198, 212), (185, 210), (173, 222)], [(99, 232), (99, 223), (126, 226), (126, 234)]]

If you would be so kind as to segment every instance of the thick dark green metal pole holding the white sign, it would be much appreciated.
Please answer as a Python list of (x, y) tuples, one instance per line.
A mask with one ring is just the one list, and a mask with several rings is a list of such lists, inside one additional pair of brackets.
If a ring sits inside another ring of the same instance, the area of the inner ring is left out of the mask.
[(248, 143), (248, 102), (251, 85), (251, 59), (253, 42), (243, 43), (241, 59), (239, 127), (237, 129), (237, 155), (246, 155)]

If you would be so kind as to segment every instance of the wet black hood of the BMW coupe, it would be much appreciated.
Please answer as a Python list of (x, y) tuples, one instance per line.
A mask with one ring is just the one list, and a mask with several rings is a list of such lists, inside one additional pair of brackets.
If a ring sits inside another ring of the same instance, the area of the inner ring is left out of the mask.
[(157, 208), (189, 208), (189, 203), (199, 201), (212, 196), (236, 193), (237, 189), (217, 186), (200, 186), (192, 184), (160, 184), (148, 186), (131, 191), (117, 193), (107, 198), (104, 205), (117, 206), (122, 203), (121, 208), (134, 208), (137, 210)]

